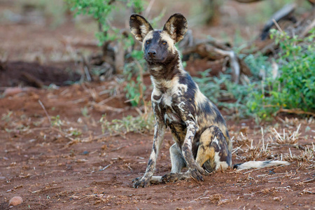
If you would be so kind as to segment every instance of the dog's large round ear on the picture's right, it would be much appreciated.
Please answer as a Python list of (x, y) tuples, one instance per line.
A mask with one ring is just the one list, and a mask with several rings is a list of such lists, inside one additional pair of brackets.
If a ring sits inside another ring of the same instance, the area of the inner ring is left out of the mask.
[(178, 42), (181, 41), (183, 36), (186, 34), (188, 28), (187, 25), (186, 18), (182, 14), (176, 13), (169, 17), (169, 20), (165, 23), (163, 30), (167, 31), (169, 36), (171, 36), (175, 42)]

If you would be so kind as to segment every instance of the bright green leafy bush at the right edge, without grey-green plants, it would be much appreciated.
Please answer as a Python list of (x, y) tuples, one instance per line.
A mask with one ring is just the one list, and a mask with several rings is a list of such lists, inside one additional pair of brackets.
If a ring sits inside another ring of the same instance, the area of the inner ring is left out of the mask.
[(307, 38), (290, 37), (271, 31), (279, 44), (279, 76), (267, 77), (252, 87), (247, 106), (256, 116), (267, 119), (279, 109), (315, 111), (315, 29)]

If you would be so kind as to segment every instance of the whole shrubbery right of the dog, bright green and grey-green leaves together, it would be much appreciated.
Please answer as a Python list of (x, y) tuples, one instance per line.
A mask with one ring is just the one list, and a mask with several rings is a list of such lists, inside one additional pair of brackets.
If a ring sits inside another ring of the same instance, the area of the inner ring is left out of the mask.
[(277, 77), (272, 76), (268, 57), (258, 54), (244, 57), (253, 76), (243, 85), (232, 83), (228, 74), (209, 77), (210, 70), (194, 78), (200, 90), (234, 119), (271, 120), (279, 109), (315, 111), (315, 29), (303, 39), (276, 30), (271, 34), (279, 45)]

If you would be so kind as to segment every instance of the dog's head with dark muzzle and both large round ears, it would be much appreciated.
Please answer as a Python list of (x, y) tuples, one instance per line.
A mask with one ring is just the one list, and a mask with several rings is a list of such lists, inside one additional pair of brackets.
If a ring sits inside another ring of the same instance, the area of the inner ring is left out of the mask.
[(130, 29), (137, 40), (142, 42), (147, 62), (165, 63), (176, 53), (175, 43), (186, 34), (187, 20), (176, 13), (167, 20), (162, 30), (154, 30), (141, 15), (131, 15)]

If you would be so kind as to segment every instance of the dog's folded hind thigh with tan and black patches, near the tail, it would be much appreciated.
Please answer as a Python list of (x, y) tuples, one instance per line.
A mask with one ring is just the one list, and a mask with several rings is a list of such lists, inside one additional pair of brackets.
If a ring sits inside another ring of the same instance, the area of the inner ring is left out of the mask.
[(202, 132), (196, 162), (207, 172), (224, 170), (232, 165), (228, 142), (218, 127), (212, 125)]

